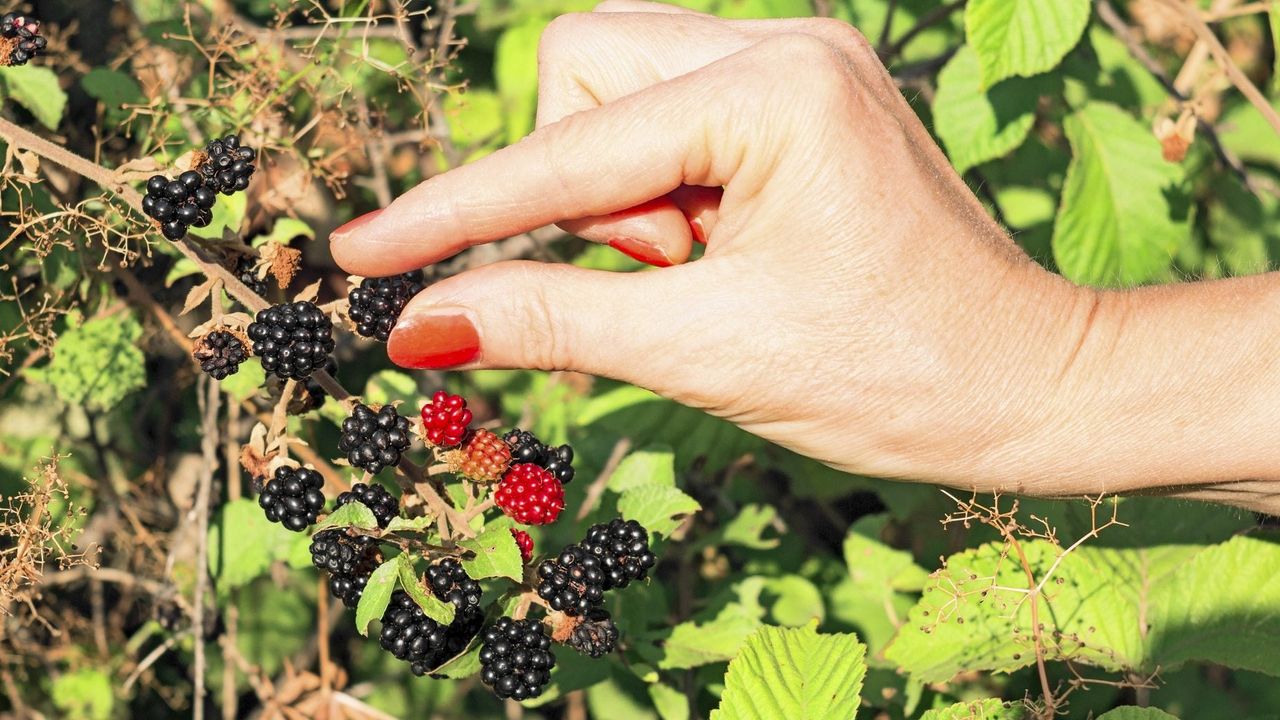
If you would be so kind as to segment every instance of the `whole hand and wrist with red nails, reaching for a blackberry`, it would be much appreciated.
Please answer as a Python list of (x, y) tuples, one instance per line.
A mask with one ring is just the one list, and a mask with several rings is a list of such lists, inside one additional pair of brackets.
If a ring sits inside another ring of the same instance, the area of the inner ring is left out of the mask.
[(338, 264), (558, 223), (662, 269), (468, 270), (413, 299), (394, 361), (617, 378), (859, 474), (1280, 511), (1277, 274), (1046, 272), (840, 22), (609, 0), (547, 28), (539, 76), (532, 135), (339, 228)]

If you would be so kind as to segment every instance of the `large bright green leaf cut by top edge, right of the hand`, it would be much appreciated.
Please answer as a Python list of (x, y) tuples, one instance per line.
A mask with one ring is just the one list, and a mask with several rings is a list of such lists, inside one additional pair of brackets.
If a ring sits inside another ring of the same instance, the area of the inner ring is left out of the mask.
[(982, 86), (1053, 69), (1089, 24), (1089, 0), (970, 0), (964, 27)]

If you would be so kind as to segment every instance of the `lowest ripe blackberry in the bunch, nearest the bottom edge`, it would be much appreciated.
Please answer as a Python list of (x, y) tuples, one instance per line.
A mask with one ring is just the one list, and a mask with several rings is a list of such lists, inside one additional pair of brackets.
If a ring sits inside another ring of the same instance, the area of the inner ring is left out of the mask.
[(480, 680), (499, 698), (529, 700), (552, 679), (552, 639), (534, 620), (499, 618), (484, 633)]

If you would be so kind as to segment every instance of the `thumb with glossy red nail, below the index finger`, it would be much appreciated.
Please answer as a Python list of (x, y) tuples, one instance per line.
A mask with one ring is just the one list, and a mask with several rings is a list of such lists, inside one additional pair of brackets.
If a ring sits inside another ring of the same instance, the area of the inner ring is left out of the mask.
[(696, 265), (639, 273), (485, 265), (410, 301), (387, 354), (404, 368), (577, 370), (655, 388), (686, 357), (672, 345), (699, 319), (689, 299), (703, 273)]

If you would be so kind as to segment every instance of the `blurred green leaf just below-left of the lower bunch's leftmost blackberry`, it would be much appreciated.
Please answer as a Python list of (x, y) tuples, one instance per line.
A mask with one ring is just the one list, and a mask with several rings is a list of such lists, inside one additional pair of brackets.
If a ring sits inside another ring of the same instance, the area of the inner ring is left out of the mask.
[(209, 573), (218, 592), (227, 593), (266, 573), (275, 560), (288, 560), (302, 537), (262, 514), (257, 502), (228, 502), (209, 527)]

